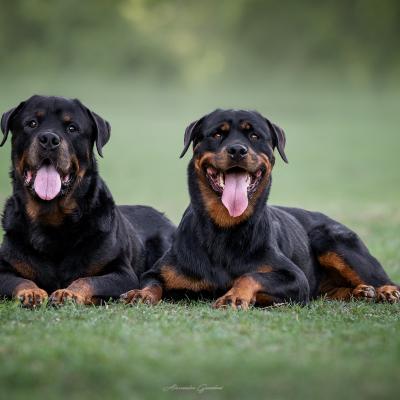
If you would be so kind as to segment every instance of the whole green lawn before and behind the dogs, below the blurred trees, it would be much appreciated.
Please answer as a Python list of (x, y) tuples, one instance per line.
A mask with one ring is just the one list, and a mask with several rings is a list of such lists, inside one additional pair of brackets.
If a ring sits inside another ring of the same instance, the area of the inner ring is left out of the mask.
[[(4, 79), (5, 111), (33, 92), (80, 97), (113, 126), (100, 170), (118, 203), (174, 221), (188, 203), (185, 126), (216, 107), (257, 108), (287, 133), (271, 202), (356, 230), (400, 282), (398, 94), (340, 85), (174, 88)], [(149, 89), (150, 87), (150, 89)], [(323, 88), (323, 89), (322, 89)], [(10, 193), (9, 145), (0, 200)], [(318, 300), (248, 312), (208, 303), (20, 309), (0, 303), (0, 398), (394, 399), (400, 305)]]

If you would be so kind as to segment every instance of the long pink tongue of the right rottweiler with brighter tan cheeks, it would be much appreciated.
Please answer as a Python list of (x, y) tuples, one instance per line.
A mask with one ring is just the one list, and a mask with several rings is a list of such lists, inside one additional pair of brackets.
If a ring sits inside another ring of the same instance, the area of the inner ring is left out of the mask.
[(245, 172), (225, 174), (222, 203), (229, 211), (231, 217), (242, 215), (249, 204), (247, 187), (250, 184), (250, 180), (247, 179), (248, 174)]

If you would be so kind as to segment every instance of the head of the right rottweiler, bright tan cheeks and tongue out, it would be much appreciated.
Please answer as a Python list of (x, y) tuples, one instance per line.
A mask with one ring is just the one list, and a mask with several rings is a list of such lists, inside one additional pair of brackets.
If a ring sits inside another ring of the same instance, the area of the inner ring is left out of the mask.
[(200, 190), (207, 212), (224, 228), (248, 219), (257, 202), (265, 202), (275, 148), (287, 162), (283, 130), (254, 111), (216, 110), (192, 122), (181, 157), (192, 142), (192, 200)]

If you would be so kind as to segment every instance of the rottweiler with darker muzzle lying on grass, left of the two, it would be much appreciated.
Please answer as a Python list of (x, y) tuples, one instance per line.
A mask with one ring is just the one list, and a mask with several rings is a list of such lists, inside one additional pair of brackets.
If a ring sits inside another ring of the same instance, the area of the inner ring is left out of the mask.
[(3, 213), (0, 296), (24, 307), (118, 298), (167, 250), (175, 228), (145, 206), (116, 206), (98, 173), (110, 125), (79, 100), (33, 96), (3, 114), (13, 192)]

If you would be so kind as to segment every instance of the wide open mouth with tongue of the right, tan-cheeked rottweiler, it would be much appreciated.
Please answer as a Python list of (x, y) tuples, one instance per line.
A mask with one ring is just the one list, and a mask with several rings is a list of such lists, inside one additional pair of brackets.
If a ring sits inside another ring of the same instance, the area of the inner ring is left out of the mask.
[(249, 199), (256, 192), (265, 174), (263, 168), (250, 173), (240, 167), (221, 171), (207, 166), (205, 171), (211, 188), (221, 196), (221, 201), (231, 217), (239, 217), (245, 212)]

